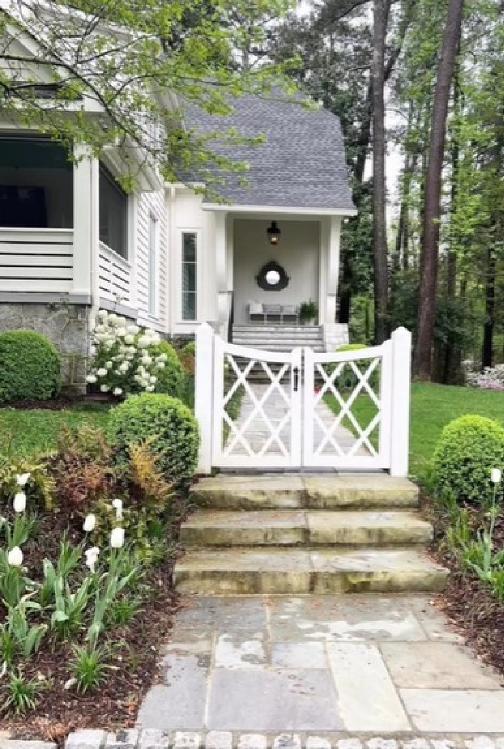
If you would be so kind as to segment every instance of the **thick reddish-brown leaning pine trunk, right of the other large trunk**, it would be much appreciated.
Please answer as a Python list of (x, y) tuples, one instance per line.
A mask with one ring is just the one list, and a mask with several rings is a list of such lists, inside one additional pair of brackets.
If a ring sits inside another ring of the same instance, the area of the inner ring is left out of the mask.
[(446, 118), (464, 0), (449, 0), (443, 46), (437, 68), (436, 92), (432, 111), (431, 142), (425, 184), (425, 223), (423, 267), (420, 279), (418, 339), (414, 371), (424, 380), (431, 378), (431, 352), (436, 321), (437, 262), (440, 239), (441, 175), (446, 139)]

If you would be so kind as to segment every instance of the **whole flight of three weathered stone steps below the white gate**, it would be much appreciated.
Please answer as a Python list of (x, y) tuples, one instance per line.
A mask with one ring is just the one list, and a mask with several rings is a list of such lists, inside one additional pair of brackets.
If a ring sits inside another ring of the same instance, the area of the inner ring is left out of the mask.
[(385, 473), (220, 475), (192, 488), (180, 592), (435, 592), (447, 571), (422, 546), (418, 488)]

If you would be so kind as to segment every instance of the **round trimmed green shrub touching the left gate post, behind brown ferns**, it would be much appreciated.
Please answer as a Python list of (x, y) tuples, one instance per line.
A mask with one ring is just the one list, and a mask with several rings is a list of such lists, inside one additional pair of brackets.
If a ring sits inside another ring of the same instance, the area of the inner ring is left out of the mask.
[(151, 439), (160, 469), (170, 479), (190, 479), (198, 463), (198, 422), (188, 407), (171, 395), (146, 392), (130, 395), (110, 412), (108, 434), (126, 459), (131, 443)]

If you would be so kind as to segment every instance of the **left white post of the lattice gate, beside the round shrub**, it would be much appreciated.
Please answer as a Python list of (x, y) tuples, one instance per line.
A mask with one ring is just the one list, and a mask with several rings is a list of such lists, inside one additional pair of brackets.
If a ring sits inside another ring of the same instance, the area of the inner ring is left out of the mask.
[(210, 325), (196, 330), (195, 414), (199, 424), (198, 473), (212, 472), (213, 339)]

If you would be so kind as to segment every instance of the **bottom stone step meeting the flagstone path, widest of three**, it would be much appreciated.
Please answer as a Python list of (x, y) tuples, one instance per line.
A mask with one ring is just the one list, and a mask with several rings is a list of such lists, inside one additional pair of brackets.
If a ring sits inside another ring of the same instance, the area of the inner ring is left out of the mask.
[(189, 551), (174, 569), (187, 595), (436, 592), (447, 571), (419, 551), (240, 548)]

